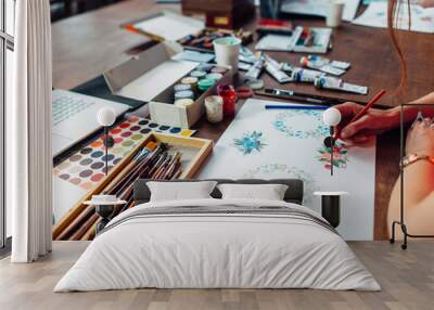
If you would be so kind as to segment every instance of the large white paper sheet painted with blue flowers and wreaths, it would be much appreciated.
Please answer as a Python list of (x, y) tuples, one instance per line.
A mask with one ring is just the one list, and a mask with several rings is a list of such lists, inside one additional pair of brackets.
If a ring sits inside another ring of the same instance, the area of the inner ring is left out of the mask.
[(259, 100), (244, 104), (197, 178), (299, 178), (305, 181), (305, 206), (317, 211), (320, 197), (315, 191), (348, 192), (342, 197), (337, 230), (346, 240), (372, 240), (375, 147), (342, 146), (335, 156), (340, 167), (331, 177), (324, 167), (329, 153), (323, 154), (323, 139), (329, 128), (322, 112), (266, 111), (270, 103), (282, 104)]

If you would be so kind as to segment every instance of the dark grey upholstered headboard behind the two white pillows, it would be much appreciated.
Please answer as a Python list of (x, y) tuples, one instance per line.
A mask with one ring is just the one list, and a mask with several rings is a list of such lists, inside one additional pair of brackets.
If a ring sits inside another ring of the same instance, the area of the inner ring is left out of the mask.
[[(148, 203), (151, 198), (151, 191), (146, 185), (146, 182), (155, 181), (149, 179), (140, 179), (135, 182), (133, 185), (133, 197), (135, 204), (140, 205)], [(203, 180), (173, 180), (164, 182), (197, 182)], [(205, 181), (205, 180), (204, 180)], [(208, 181), (208, 180), (206, 180)], [(284, 195), (284, 201), (286, 203), (293, 203), (302, 205), (303, 203), (303, 181), (298, 179), (272, 179), (272, 180), (260, 180), (260, 179), (242, 179), (242, 180), (230, 180), (230, 179), (213, 179), (210, 181), (216, 181), (218, 184), (284, 184), (288, 185), (286, 193)], [(157, 181), (158, 182), (158, 181)], [(216, 188), (210, 195), (214, 198), (221, 198), (220, 191)]]

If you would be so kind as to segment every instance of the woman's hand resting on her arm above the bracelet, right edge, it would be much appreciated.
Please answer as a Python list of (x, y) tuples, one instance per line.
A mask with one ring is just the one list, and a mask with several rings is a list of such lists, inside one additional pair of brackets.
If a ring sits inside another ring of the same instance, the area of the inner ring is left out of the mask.
[(434, 156), (434, 124), (432, 119), (416, 120), (407, 133), (406, 154)]

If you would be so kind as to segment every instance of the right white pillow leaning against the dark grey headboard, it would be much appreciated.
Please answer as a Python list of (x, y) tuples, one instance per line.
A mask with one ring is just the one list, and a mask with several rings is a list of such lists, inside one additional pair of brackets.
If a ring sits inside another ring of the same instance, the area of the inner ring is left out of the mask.
[(283, 184), (220, 184), (224, 199), (283, 201), (288, 185)]

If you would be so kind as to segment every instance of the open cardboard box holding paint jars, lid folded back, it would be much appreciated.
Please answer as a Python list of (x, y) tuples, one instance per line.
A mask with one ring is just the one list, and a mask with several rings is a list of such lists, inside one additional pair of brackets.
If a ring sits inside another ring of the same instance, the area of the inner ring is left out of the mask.
[[(178, 43), (158, 43), (105, 72), (104, 78), (112, 93), (149, 102), (154, 122), (191, 128), (205, 113), (205, 96), (215, 94), (217, 85), (232, 82), (232, 70), (213, 64), (174, 60), (174, 55), (181, 51)], [(206, 79), (208, 74), (213, 74), (212, 79)], [(180, 83), (190, 86), (190, 91), (178, 93)], [(194, 102), (174, 104), (181, 99)]]

